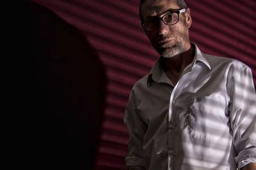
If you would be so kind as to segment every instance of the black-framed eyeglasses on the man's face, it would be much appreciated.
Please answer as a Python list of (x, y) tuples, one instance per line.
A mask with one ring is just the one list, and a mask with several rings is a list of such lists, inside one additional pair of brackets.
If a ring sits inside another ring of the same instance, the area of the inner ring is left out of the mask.
[(166, 25), (174, 25), (179, 22), (179, 14), (186, 11), (186, 8), (179, 9), (178, 11), (169, 11), (162, 17), (150, 18), (141, 22), (141, 25), (146, 31), (155, 31), (159, 27), (160, 20)]

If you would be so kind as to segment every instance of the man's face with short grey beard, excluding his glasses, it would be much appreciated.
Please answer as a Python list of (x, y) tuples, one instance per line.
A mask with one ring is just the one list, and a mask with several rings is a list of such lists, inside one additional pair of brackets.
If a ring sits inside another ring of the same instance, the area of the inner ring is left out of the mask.
[[(175, 0), (146, 0), (141, 6), (143, 20), (152, 17), (162, 17), (169, 10), (177, 10)], [(179, 22), (175, 25), (165, 25), (162, 21), (155, 31), (146, 31), (148, 38), (157, 52), (163, 57), (171, 58), (190, 48), (188, 29), (191, 25), (189, 9), (186, 17), (179, 14)]]

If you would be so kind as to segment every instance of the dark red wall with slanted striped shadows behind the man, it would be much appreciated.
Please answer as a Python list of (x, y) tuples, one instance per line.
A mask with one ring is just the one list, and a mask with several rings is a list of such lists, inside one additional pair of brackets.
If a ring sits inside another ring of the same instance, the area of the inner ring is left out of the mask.
[[(140, 26), (139, 0), (36, 0), (80, 29), (104, 62), (108, 97), (96, 169), (125, 169), (128, 134), (122, 118), (135, 81), (158, 55)], [(187, 1), (191, 41), (206, 53), (239, 59), (256, 85), (256, 1)], [(97, 69), (97, 68), (95, 68)]]

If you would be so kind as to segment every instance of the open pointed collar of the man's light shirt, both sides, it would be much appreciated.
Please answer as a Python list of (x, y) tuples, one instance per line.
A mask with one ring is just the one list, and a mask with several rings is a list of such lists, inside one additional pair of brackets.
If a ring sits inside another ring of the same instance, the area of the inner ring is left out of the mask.
[[(202, 62), (203, 64), (205, 64), (205, 66), (211, 69), (209, 61), (207, 57), (204, 55), (204, 53), (200, 51), (200, 49), (198, 48), (198, 46), (196, 46), (195, 43), (192, 43), (192, 44), (195, 45), (195, 57), (191, 64), (192, 65), (191, 69), (198, 61)], [(164, 73), (163, 67), (161, 66), (161, 57), (157, 59), (150, 73), (148, 74), (147, 86), (149, 86), (152, 81), (156, 81), (157, 83), (168, 83), (172, 85), (172, 81), (170, 81), (170, 79), (166, 76), (166, 74)]]

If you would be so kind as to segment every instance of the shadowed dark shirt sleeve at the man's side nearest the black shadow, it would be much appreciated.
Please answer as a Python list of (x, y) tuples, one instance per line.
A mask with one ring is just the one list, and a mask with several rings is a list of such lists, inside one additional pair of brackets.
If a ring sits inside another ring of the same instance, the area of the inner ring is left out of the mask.
[(129, 155), (125, 157), (126, 166), (129, 169), (145, 169), (143, 160), (143, 138), (145, 135), (145, 124), (138, 115), (134, 92), (131, 91), (127, 107), (125, 109), (124, 124), (129, 132)]

